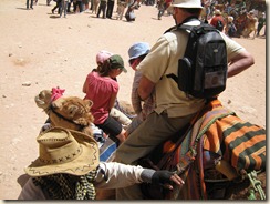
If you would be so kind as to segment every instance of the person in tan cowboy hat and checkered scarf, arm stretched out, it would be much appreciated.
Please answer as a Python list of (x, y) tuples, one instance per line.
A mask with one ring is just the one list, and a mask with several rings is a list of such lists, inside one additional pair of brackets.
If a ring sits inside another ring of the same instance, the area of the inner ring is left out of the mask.
[(95, 187), (117, 188), (148, 182), (173, 188), (173, 182), (184, 183), (169, 171), (100, 162), (96, 141), (77, 131), (53, 128), (37, 141), (39, 157), (24, 169), (31, 177), (19, 200), (94, 200)]

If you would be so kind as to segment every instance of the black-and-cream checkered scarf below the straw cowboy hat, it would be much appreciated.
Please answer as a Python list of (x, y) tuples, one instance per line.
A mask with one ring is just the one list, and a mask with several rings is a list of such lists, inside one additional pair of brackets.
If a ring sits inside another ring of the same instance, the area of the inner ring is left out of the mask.
[(33, 177), (33, 183), (41, 186), (51, 200), (95, 200), (93, 182), (96, 170), (82, 176), (71, 174), (53, 174)]

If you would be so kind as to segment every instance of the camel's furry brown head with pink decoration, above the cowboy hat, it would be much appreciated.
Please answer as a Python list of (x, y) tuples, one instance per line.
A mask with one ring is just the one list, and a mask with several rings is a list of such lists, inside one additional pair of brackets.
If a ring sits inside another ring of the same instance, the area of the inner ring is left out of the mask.
[(94, 121), (90, 111), (93, 104), (92, 101), (82, 100), (77, 96), (63, 98), (63, 92), (64, 90), (59, 88), (42, 90), (34, 98), (35, 104), (48, 114), (50, 125), (92, 135), (91, 124)]

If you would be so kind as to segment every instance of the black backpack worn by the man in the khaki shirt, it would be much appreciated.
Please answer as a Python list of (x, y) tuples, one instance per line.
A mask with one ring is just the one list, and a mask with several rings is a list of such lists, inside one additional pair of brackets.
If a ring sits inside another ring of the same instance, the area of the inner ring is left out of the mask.
[[(227, 50), (219, 31), (210, 24), (180, 24), (177, 30), (189, 30), (187, 48), (178, 60), (178, 78), (170, 73), (179, 90), (187, 96), (199, 99), (215, 98), (226, 88)], [(168, 30), (169, 31), (169, 30)]]

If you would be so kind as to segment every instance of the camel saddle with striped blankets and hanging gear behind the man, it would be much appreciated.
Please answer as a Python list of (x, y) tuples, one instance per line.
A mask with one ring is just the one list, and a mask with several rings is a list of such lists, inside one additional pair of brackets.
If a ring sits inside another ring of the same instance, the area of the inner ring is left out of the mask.
[[(145, 198), (228, 198), (232, 185), (256, 183), (266, 170), (266, 130), (242, 121), (219, 100), (212, 100), (179, 133), (155, 149), (139, 164), (155, 170), (175, 171), (185, 181), (174, 191), (141, 184)], [(255, 182), (256, 181), (256, 182)], [(259, 191), (264, 197), (263, 190)], [(158, 196), (157, 196), (158, 195)]]

